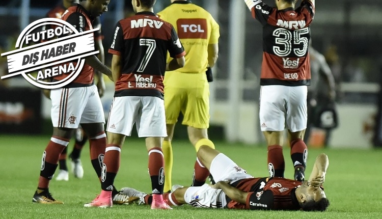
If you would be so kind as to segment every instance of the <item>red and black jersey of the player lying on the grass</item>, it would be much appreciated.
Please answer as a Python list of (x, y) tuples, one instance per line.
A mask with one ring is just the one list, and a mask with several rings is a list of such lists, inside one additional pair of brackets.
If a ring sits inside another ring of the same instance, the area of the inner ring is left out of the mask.
[(295, 189), (302, 182), (279, 178), (242, 179), (232, 186), (249, 193), (245, 204), (229, 201), (227, 208), (250, 210), (299, 210)]

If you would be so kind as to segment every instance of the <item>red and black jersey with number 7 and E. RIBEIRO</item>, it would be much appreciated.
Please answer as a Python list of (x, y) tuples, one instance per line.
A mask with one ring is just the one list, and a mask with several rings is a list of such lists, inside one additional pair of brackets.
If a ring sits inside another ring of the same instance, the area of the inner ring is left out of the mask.
[(139, 12), (120, 20), (109, 53), (121, 56), (122, 76), (115, 96), (155, 96), (163, 99), (167, 51), (185, 55), (174, 27), (152, 12)]

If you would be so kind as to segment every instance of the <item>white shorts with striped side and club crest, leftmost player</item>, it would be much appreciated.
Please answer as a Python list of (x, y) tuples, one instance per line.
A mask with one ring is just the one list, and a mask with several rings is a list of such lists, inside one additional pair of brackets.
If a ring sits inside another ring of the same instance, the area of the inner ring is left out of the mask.
[(78, 128), (80, 123), (105, 123), (97, 86), (50, 91), (53, 127)]

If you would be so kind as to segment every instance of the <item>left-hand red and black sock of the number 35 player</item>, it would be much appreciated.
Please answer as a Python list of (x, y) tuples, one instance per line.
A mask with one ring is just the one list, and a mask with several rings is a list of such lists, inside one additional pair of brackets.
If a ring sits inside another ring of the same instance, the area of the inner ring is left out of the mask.
[(283, 147), (280, 145), (268, 146), (268, 171), (270, 177), (284, 177), (285, 161)]

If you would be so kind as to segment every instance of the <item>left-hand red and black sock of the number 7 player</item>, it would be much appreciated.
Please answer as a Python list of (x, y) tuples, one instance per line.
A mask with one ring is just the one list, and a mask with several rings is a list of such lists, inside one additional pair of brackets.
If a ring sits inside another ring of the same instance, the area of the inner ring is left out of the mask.
[(102, 164), (101, 188), (105, 191), (114, 190), (114, 179), (117, 176), (120, 160), (121, 148), (119, 145), (107, 145), (105, 158)]

